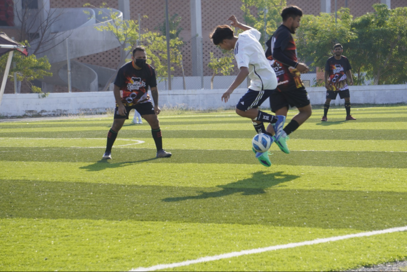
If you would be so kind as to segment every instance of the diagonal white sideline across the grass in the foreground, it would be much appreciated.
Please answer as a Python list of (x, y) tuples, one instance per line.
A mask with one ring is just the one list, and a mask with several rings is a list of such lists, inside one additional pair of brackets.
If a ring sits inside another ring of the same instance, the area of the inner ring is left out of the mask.
[(160, 269), (186, 266), (186, 265), (190, 265), (190, 264), (194, 264), (194, 263), (204, 263), (204, 262), (208, 262), (208, 261), (217, 261), (217, 260), (221, 260), (221, 259), (228, 259), (228, 258), (232, 258), (232, 257), (242, 256), (242, 255), (256, 254), (256, 253), (267, 252), (267, 251), (271, 251), (271, 250), (279, 250), (279, 249), (284, 249), (284, 248), (296, 248), (298, 246), (309, 246), (309, 245), (315, 245), (318, 243), (327, 243), (327, 242), (332, 242), (332, 241), (339, 241), (339, 240), (350, 239), (350, 238), (355, 238), (355, 237), (366, 237), (366, 236), (379, 235), (379, 234), (384, 234), (384, 233), (395, 233), (398, 231), (406, 231), (406, 230), (407, 230), (407, 226), (399, 227), (399, 228), (387, 228), (385, 230), (375, 230), (375, 231), (369, 231), (366, 233), (348, 234), (348, 235), (335, 236), (335, 237), (324, 238), (324, 239), (315, 239), (315, 240), (305, 241), (305, 242), (300, 242), (300, 243), (287, 243), (285, 245), (269, 246), (267, 248), (256, 248), (256, 249), (250, 249), (250, 250), (230, 252), (230, 253), (225, 253), (225, 254), (220, 254), (220, 255), (215, 255), (215, 256), (202, 257), (202, 258), (190, 260), (190, 261), (183, 261), (180, 263), (159, 264), (159, 265), (154, 265), (154, 266), (150, 266), (147, 268), (144, 268), (144, 267), (133, 268), (129, 271), (130, 272), (155, 271), (155, 270), (160, 270)]

